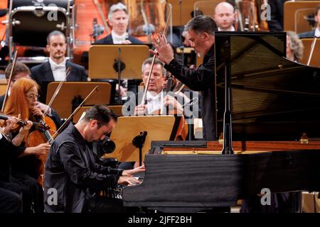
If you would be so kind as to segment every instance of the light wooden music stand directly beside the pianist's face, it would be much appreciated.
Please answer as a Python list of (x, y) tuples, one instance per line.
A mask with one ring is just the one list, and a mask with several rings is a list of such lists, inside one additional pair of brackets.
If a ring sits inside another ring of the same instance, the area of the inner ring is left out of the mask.
[[(111, 133), (110, 139), (116, 144), (113, 153), (104, 157), (115, 157), (120, 162), (137, 162), (144, 160), (144, 155), (149, 152), (151, 141), (169, 140), (174, 128), (174, 116), (122, 116), (118, 118), (117, 126)], [(139, 154), (132, 141), (140, 133), (146, 132), (144, 147)], [(141, 155), (142, 159), (139, 159)]]

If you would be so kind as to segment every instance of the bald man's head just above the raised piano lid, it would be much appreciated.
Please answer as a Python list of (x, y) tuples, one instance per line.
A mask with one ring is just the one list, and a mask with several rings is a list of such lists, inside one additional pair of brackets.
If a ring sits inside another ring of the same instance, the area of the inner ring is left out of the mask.
[(233, 5), (225, 1), (220, 2), (215, 6), (213, 18), (220, 31), (233, 31), (233, 23), (235, 22)]

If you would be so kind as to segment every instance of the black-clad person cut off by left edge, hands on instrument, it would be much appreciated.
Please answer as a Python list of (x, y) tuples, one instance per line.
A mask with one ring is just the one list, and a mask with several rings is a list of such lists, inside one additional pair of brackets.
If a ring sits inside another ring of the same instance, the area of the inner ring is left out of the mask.
[(28, 189), (14, 182), (10, 175), (11, 160), (21, 155), (22, 150), (16, 149), (23, 136), (31, 128), (28, 121), (26, 126), (19, 129), (18, 134), (11, 139), (11, 131), (16, 129), (18, 118), (9, 117), (0, 127), (0, 213), (20, 213), (31, 211), (31, 196)]

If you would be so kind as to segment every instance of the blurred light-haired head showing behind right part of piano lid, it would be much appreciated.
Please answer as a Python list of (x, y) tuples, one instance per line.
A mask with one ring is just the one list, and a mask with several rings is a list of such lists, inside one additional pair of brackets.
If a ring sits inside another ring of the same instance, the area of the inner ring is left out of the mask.
[(287, 58), (293, 62), (300, 62), (304, 52), (302, 40), (299, 40), (297, 33), (287, 31)]

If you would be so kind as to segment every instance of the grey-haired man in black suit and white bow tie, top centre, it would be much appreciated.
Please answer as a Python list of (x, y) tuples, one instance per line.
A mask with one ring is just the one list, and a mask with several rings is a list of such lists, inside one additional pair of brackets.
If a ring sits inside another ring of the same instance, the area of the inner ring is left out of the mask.
[(97, 40), (96, 43), (101, 44), (142, 44), (142, 41), (134, 38), (127, 33), (129, 24), (129, 17), (127, 13), (127, 6), (122, 3), (114, 4), (110, 7), (108, 14), (108, 23), (112, 27), (110, 35), (105, 38)]

